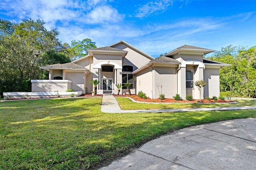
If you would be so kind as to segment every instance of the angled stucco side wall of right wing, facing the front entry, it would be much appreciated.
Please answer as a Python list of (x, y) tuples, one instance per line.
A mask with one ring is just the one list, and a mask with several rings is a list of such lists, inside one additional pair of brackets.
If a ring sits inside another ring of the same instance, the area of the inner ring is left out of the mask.
[(151, 68), (144, 69), (136, 73), (136, 94), (139, 91), (146, 93), (148, 97), (153, 99), (153, 71)]

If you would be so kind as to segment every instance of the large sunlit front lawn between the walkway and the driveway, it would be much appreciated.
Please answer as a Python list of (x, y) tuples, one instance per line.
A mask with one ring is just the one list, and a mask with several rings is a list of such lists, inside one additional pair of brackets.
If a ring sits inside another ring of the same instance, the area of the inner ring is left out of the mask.
[(0, 102), (0, 169), (86, 169), (172, 130), (251, 111), (106, 114), (102, 98)]

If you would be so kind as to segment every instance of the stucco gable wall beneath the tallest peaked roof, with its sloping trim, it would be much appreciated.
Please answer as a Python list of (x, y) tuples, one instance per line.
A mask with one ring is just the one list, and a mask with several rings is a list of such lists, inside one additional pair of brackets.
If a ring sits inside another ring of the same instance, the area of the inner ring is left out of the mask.
[(152, 59), (149, 59), (142, 53), (138, 53), (134, 49), (128, 47), (124, 43), (119, 43), (114, 48), (122, 49), (124, 51), (128, 51), (127, 55), (122, 58), (122, 65), (132, 65), (133, 71), (140, 68), (142, 65), (146, 64), (148, 61), (151, 61)]

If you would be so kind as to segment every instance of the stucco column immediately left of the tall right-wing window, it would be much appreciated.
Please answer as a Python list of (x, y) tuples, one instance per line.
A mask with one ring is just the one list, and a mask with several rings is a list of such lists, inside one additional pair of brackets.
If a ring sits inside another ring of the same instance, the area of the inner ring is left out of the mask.
[(178, 71), (178, 94), (182, 99), (186, 99), (186, 67), (180, 67)]

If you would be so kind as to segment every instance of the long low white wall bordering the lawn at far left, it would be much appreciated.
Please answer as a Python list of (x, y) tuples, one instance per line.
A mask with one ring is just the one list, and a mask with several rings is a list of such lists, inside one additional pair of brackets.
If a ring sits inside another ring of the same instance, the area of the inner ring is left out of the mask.
[(57, 93), (62, 97), (70, 97), (72, 93), (74, 93), (74, 97), (78, 97), (82, 95), (82, 91), (74, 91), (74, 92), (9, 92), (3, 93), (4, 100), (8, 97), (10, 99), (24, 99), (24, 95), (28, 95), (28, 99), (35, 98), (48, 98), (48, 97), (57, 97)]

